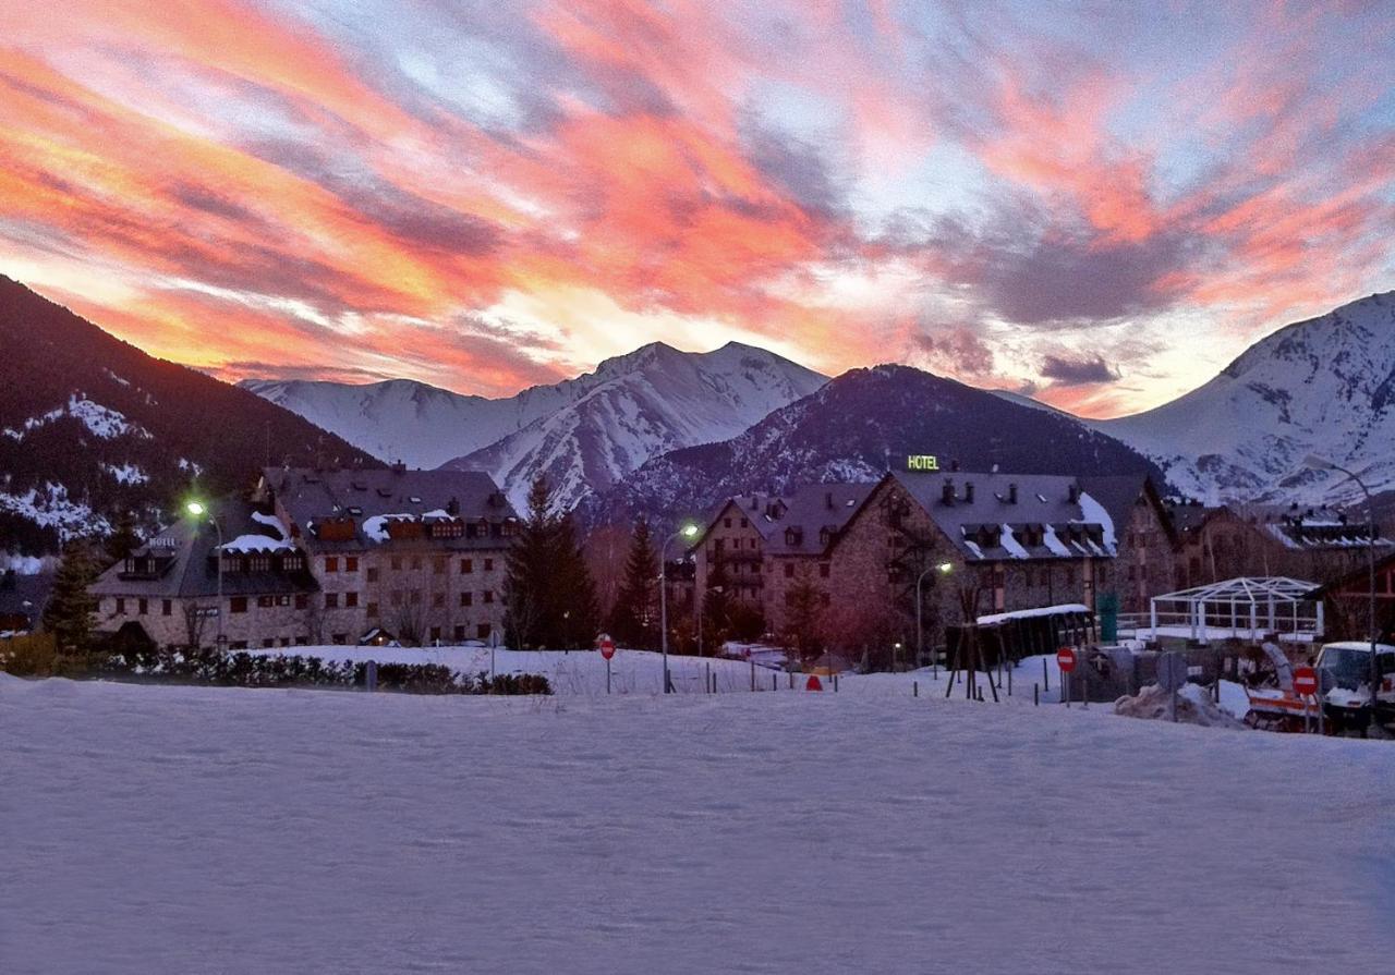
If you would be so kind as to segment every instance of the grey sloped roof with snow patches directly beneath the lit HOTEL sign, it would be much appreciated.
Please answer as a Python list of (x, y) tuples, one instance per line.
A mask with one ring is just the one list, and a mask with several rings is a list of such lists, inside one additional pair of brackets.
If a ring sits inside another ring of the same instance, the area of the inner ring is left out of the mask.
[[(968, 561), (1101, 558), (1115, 555), (1115, 524), (1103, 504), (1059, 474), (896, 471), (891, 474)], [(953, 501), (944, 502), (944, 485)], [(972, 485), (974, 499), (968, 499)], [(1017, 501), (1013, 502), (1013, 485)], [(1076, 498), (1071, 498), (1076, 488)], [(1020, 529), (1041, 529), (1032, 544)], [(988, 529), (988, 531), (982, 531)], [(996, 544), (985, 540), (997, 529)]]

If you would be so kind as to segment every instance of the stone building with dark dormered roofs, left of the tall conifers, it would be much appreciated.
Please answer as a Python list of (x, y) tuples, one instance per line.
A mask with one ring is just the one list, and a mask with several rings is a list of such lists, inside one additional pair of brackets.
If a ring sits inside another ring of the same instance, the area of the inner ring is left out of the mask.
[(99, 629), (213, 646), (220, 621), (234, 650), (488, 639), (502, 632), (516, 526), (483, 473), (268, 469), (248, 499), (181, 520), (106, 572)]

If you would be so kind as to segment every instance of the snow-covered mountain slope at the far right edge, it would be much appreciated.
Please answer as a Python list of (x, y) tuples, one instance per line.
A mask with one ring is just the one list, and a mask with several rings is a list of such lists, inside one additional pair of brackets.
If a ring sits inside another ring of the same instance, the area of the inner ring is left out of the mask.
[(1320, 453), (1395, 487), (1395, 292), (1279, 329), (1200, 389), (1119, 420), (1087, 421), (1158, 460), (1208, 501), (1350, 501), (1339, 477), (1304, 471)]

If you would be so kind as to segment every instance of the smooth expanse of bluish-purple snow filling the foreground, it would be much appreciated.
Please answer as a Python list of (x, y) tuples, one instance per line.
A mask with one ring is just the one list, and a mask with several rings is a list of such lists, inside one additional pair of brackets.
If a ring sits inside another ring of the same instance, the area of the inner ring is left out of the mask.
[(0, 958), (141, 975), (1388, 967), (1388, 743), (1106, 710), (0, 675)]

